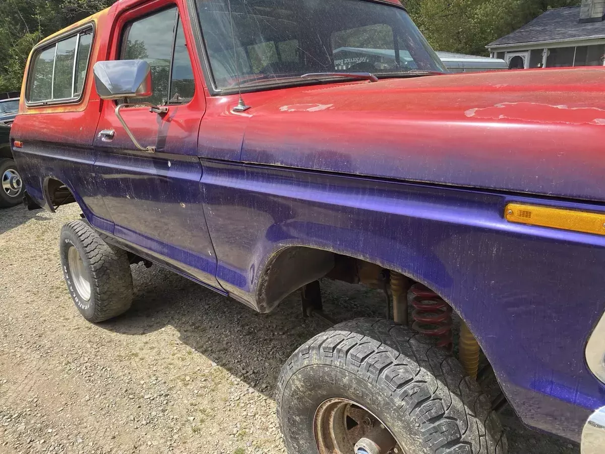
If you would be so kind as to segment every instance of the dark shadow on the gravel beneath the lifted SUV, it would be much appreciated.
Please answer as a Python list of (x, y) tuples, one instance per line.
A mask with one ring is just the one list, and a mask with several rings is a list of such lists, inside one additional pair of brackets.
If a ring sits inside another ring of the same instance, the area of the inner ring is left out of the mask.
[[(302, 317), (298, 294), (270, 314), (258, 314), (159, 266), (133, 266), (132, 277), (132, 309), (100, 326), (125, 335), (145, 335), (172, 326), (195, 352), (270, 398), (275, 396), (278, 374), (290, 354), (329, 327), (315, 318)], [(324, 310), (336, 320), (384, 317), (382, 292), (328, 280), (321, 286)], [(579, 452), (574, 443), (527, 429), (510, 407), (500, 418), (509, 454)]]

